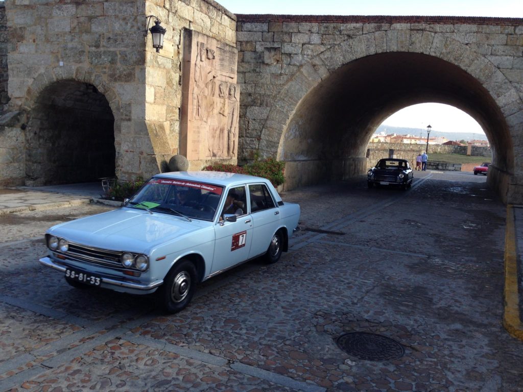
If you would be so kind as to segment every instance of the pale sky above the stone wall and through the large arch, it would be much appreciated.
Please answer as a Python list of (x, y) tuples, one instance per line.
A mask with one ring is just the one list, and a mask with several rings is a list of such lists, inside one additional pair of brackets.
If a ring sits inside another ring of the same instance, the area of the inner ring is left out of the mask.
[[(523, 18), (523, 0), (217, 0), (234, 14), (420, 15)], [(467, 113), (440, 103), (422, 103), (399, 112), (383, 125), (442, 132), (484, 133)]]

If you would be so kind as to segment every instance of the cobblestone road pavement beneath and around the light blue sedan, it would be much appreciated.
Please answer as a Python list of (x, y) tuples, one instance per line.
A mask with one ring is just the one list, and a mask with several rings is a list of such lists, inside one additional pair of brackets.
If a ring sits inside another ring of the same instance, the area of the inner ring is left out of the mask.
[[(48, 226), (107, 207), (0, 216), (0, 390), (523, 390), (501, 324), (505, 207), (482, 176), (416, 176), (283, 193), (302, 207), (291, 250), (202, 283), (176, 315), (37, 263)], [(351, 332), (404, 354), (359, 359), (337, 344)]]

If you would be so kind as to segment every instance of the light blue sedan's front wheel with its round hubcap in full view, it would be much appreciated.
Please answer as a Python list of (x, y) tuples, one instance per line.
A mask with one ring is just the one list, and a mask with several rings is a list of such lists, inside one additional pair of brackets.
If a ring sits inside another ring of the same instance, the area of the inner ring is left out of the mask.
[(167, 313), (178, 313), (191, 302), (196, 289), (196, 268), (189, 260), (180, 260), (169, 271), (157, 290), (158, 303)]

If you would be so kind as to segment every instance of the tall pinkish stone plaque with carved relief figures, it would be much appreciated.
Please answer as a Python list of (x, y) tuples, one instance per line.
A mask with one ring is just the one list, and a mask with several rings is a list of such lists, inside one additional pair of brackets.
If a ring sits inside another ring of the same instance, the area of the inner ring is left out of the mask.
[(188, 160), (237, 158), (237, 59), (235, 47), (184, 31), (180, 153)]

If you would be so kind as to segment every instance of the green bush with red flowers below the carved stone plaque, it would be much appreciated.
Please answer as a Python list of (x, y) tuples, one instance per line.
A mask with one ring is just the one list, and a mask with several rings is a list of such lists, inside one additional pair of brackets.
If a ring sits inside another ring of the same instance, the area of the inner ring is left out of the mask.
[(258, 157), (255, 157), (254, 163), (245, 166), (218, 163), (206, 166), (203, 170), (227, 171), (230, 173), (264, 177), (267, 178), (275, 187), (285, 182), (285, 162), (278, 161), (274, 158), (267, 158), (264, 160), (258, 160), (257, 158)]

